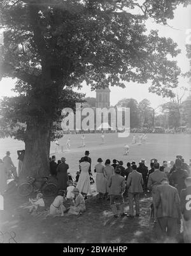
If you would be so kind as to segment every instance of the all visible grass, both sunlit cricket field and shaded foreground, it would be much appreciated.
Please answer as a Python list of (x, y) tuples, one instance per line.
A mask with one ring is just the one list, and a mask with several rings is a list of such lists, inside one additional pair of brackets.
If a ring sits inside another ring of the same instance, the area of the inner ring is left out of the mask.
[[(177, 154), (182, 154), (185, 161), (191, 158), (190, 135), (183, 134), (148, 134), (146, 144), (141, 146), (131, 145), (132, 134), (128, 138), (118, 138), (117, 134), (108, 133), (105, 136), (106, 143), (101, 144), (100, 134), (85, 135), (86, 147), (81, 147), (81, 135), (66, 135), (59, 140), (60, 146), (66, 146), (67, 138), (71, 138), (71, 151), (56, 154), (57, 159), (66, 157), (69, 171), (75, 174), (78, 170), (78, 160), (85, 150), (90, 151), (92, 167), (97, 158), (116, 158), (127, 162), (135, 160), (139, 162), (145, 158), (149, 165), (151, 158), (157, 158), (160, 163), (163, 160), (174, 160)], [(130, 146), (128, 156), (124, 156), (124, 145)], [(0, 158), (3, 158), (7, 150), (11, 151), (13, 162), (17, 163), (17, 149), (23, 149), (24, 144), (17, 140), (1, 140)], [(51, 146), (51, 154), (54, 146)], [(93, 169), (93, 168), (92, 168)], [(95, 175), (95, 174), (94, 174)], [(153, 220), (150, 220), (150, 197), (143, 196), (141, 199), (141, 216), (129, 220), (124, 218), (114, 219), (107, 200), (97, 199), (95, 186), (92, 186), (92, 195), (86, 201), (87, 211), (79, 217), (64, 216), (47, 218), (46, 216), (30, 216), (25, 206), (28, 199), (18, 197), (6, 197), (5, 211), (0, 213), (0, 230), (16, 234), (18, 243), (159, 243), (155, 237)], [(53, 199), (46, 199), (45, 203), (50, 206)], [(129, 210), (129, 202), (125, 198), (125, 211)], [(10, 236), (6, 233), (5, 240)], [(2, 236), (0, 236), (2, 239)], [(12, 239), (13, 240), (13, 239)], [(14, 243), (14, 241), (10, 241)]]

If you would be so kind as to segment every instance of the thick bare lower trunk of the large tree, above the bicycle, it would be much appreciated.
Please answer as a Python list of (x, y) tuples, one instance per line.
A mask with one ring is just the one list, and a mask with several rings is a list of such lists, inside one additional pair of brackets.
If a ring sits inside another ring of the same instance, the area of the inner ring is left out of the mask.
[(22, 177), (42, 177), (50, 172), (50, 123), (27, 125)]

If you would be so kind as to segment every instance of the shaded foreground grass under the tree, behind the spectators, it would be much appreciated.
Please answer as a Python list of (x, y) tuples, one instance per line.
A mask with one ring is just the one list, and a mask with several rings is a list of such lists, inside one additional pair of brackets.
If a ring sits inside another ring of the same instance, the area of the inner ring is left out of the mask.
[[(125, 211), (128, 211), (125, 199)], [(52, 200), (46, 202), (47, 207)], [(148, 215), (150, 199), (141, 200), (141, 216), (113, 218), (110, 201), (95, 195), (86, 200), (87, 211), (80, 216), (31, 216), (25, 203), (17, 208), (18, 215), (6, 223), (6, 229), (18, 234), (20, 243), (153, 243), (153, 227)], [(24, 216), (23, 220), (18, 218)]]

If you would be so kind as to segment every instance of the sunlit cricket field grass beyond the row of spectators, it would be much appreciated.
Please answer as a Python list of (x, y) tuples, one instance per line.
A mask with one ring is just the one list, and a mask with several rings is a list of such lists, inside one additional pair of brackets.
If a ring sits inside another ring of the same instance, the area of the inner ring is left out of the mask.
[[(132, 134), (127, 138), (118, 138), (117, 133), (106, 133), (105, 144), (101, 142), (101, 134), (85, 134), (85, 147), (81, 147), (81, 135), (64, 135), (59, 140), (61, 146), (66, 150), (66, 141), (71, 138), (71, 151), (56, 154), (57, 160), (62, 156), (66, 157), (69, 164), (69, 172), (72, 175), (78, 170), (78, 160), (84, 155), (85, 150), (90, 151), (92, 158), (92, 167), (97, 163), (97, 158), (103, 160), (122, 160), (126, 165), (127, 162), (135, 160), (139, 162), (141, 158), (146, 160), (149, 165), (150, 159), (157, 158), (162, 163), (163, 160), (174, 160), (177, 154), (183, 155), (185, 162), (191, 158), (191, 135), (183, 134), (148, 134), (146, 144), (141, 146), (132, 145)], [(130, 146), (129, 155), (124, 155), (124, 145)], [(0, 158), (3, 158), (6, 151), (11, 151), (11, 158), (17, 166), (17, 150), (24, 149), (24, 143), (13, 139), (0, 140)], [(54, 144), (51, 144), (50, 155), (54, 153)], [(93, 168), (92, 168), (93, 169)]]

